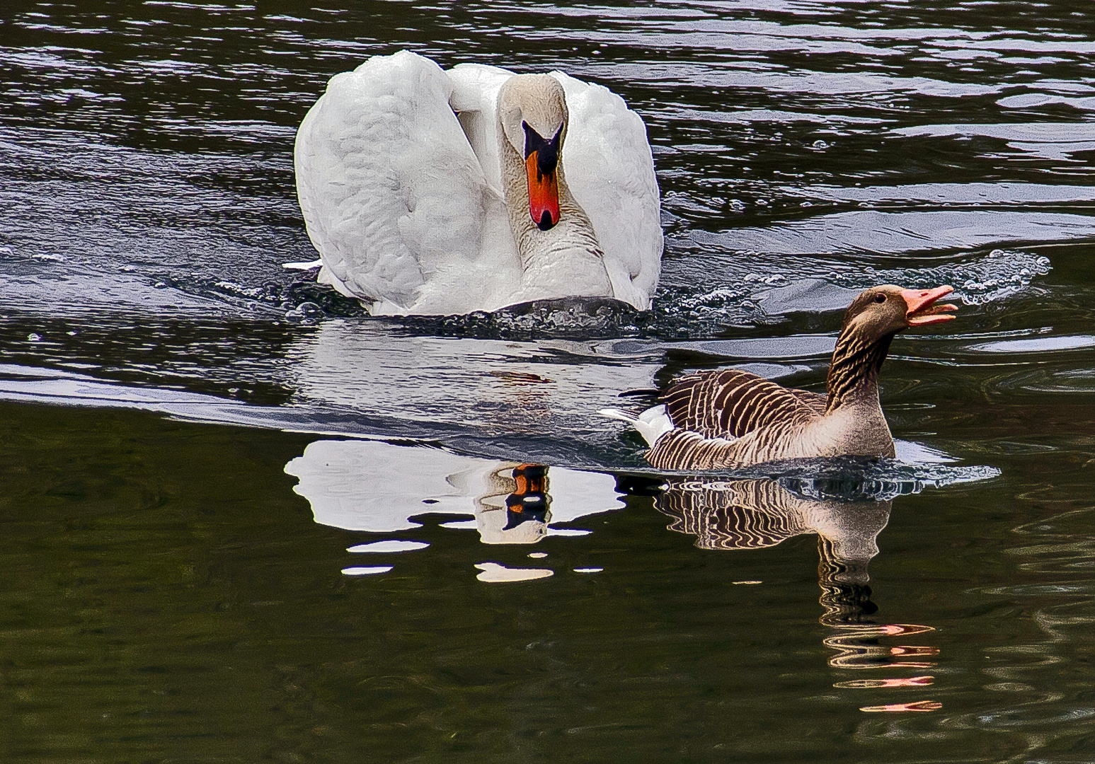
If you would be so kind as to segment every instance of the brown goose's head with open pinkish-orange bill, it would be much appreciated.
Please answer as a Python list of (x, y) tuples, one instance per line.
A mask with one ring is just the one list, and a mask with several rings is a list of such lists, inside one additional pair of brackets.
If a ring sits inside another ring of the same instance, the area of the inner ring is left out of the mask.
[(954, 304), (935, 304), (941, 297), (954, 291), (954, 287), (934, 289), (901, 289), (887, 283), (872, 287), (860, 293), (844, 313), (841, 334), (855, 332), (868, 342), (902, 332), (910, 326), (940, 324), (954, 319)]

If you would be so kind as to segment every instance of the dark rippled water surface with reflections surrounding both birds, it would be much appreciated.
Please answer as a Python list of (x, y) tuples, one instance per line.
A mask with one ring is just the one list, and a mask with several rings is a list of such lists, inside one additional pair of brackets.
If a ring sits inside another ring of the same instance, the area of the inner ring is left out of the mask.
[[(643, 115), (653, 314), (281, 268), (297, 124), (401, 48)], [(1095, 761), (1093, 54), (1077, 2), (7, 0), (3, 759)], [(961, 302), (894, 343), (899, 463), (656, 476), (596, 416), (817, 389), (883, 281)]]

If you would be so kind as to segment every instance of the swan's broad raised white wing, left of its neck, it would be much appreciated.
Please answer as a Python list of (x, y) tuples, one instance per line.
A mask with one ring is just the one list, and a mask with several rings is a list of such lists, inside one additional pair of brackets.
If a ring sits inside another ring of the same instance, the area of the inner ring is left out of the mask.
[[(297, 194), (323, 276), (373, 312), (493, 310), (484, 290), (516, 286), (508, 270), (519, 279), (505, 212), (492, 213), (500, 201), (451, 94), (433, 61), (376, 56), (333, 77), (297, 132)], [(508, 245), (508, 270), (506, 253), (485, 257), (484, 242)]]

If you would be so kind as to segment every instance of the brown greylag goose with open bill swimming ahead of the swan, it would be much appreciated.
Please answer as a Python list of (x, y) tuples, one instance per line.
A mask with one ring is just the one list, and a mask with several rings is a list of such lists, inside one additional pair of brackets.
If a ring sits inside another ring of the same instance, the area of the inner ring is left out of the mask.
[(949, 321), (953, 304), (936, 304), (952, 287), (873, 287), (844, 313), (827, 394), (783, 387), (735, 369), (689, 374), (660, 394), (660, 405), (632, 422), (661, 470), (726, 470), (782, 459), (892, 456), (894, 437), (878, 403), (878, 371), (890, 340), (910, 326)]

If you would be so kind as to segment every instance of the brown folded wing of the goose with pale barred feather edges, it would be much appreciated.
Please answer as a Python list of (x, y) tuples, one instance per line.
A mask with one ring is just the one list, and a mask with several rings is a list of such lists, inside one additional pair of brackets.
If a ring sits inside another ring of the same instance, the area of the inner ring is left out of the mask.
[(662, 394), (673, 426), (704, 439), (741, 438), (787, 421), (808, 421), (825, 410), (821, 397), (788, 390), (763, 377), (725, 369), (689, 374)]

